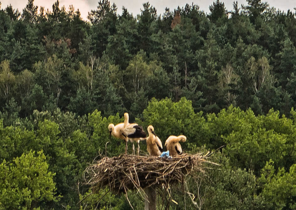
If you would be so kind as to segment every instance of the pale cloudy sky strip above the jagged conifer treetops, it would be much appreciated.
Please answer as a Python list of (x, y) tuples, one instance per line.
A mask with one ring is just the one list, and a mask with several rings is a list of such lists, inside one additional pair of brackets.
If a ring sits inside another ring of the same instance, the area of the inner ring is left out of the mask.
[[(129, 13), (132, 13), (133, 16), (136, 16), (138, 13), (141, 13), (141, 8), (143, 8), (143, 3), (147, 2), (148, 0), (144, 1), (138, 1), (138, 0), (110, 0), (110, 3), (115, 3), (117, 6), (117, 13), (121, 14), (122, 12), (122, 6), (125, 6), (127, 8)], [(214, 0), (216, 1), (216, 0)], [(205, 11), (206, 13), (209, 13), (209, 6), (213, 4), (214, 1), (209, 0), (196, 0), (193, 1), (194, 4), (197, 4), (200, 7), (200, 10)], [(221, 0), (224, 2), (225, 7), (227, 10), (233, 9), (233, 2), (234, 0)], [(25, 8), (28, 1), (26, 0), (0, 0), (1, 2), (1, 8), (5, 8), (7, 5), (11, 4), (13, 8), (18, 8), (20, 12), (22, 12), (23, 8)], [(52, 8), (52, 4), (56, 2), (56, 0), (35, 0), (34, 4), (39, 6), (43, 6), (45, 8)], [(266, 2), (262, 0), (261, 2)], [(275, 7), (277, 9), (280, 9), (282, 11), (287, 11), (288, 9), (294, 11), (294, 7), (296, 7), (296, 1), (295, 0), (269, 0), (267, 1), (269, 3), (270, 7)], [(150, 5), (153, 5), (157, 9), (158, 14), (164, 13), (164, 8), (168, 7), (171, 11), (174, 11), (175, 8), (178, 6), (184, 7), (186, 3), (191, 4), (192, 1), (188, 0), (150, 0)], [(96, 9), (98, 5), (98, 0), (60, 0), (60, 7), (63, 5), (66, 7), (66, 10), (68, 10), (69, 5), (73, 4), (75, 10), (79, 8), (81, 17), (86, 20), (86, 16), (90, 10)], [(238, 0), (238, 4), (244, 4), (246, 5), (247, 2), (245, 0)]]

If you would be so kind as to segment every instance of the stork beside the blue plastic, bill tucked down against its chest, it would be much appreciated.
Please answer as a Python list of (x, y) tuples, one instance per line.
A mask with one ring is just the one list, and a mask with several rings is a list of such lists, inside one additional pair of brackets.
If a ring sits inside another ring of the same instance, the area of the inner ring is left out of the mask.
[(158, 136), (154, 133), (152, 125), (147, 128), (149, 137), (146, 139), (147, 151), (151, 156), (159, 156), (162, 153), (162, 143)]

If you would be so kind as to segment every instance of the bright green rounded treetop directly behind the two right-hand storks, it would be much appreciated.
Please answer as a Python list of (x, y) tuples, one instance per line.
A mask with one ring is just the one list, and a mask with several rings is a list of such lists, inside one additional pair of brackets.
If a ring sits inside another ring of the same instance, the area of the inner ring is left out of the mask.
[(187, 137), (189, 143), (200, 146), (207, 143), (207, 138), (203, 138), (207, 131), (202, 112), (194, 113), (191, 101), (184, 97), (176, 103), (168, 98), (160, 101), (152, 99), (143, 111), (143, 118), (145, 127), (153, 125), (163, 144), (170, 135), (181, 134)]

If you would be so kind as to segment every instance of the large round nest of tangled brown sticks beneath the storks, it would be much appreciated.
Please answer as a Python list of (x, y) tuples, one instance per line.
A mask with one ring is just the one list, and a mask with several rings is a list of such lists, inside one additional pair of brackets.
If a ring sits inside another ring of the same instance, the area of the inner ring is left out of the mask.
[(207, 160), (209, 155), (183, 153), (171, 159), (135, 155), (104, 157), (88, 166), (83, 176), (93, 192), (109, 186), (113, 193), (137, 189), (142, 194), (148, 186), (182, 183), (192, 171), (204, 173), (206, 163), (215, 164)]

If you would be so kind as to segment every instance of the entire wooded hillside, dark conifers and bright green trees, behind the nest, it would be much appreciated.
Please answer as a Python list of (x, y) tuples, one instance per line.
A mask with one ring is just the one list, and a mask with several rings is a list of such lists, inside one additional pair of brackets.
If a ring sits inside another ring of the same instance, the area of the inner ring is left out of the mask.
[(124, 152), (108, 132), (124, 112), (220, 164), (186, 178), (193, 200), (160, 189), (157, 209), (296, 209), (296, 8), (216, 0), (209, 11), (146, 2), (133, 16), (100, 0), (83, 20), (58, 0), (0, 1), (0, 210), (131, 209), (83, 184), (100, 155)]

